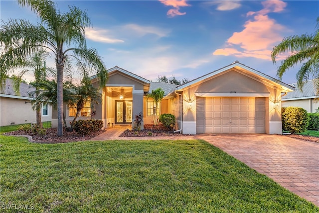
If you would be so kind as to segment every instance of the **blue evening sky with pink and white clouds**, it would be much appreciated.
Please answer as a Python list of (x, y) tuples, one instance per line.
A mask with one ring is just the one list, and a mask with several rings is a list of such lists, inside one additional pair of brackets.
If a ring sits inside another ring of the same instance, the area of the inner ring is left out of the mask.
[[(285, 37), (315, 32), (318, 0), (72, 0), (56, 1), (61, 12), (68, 5), (86, 10), (87, 46), (96, 48), (107, 69), (119, 66), (148, 80), (174, 76), (192, 80), (238, 60), (276, 76), (272, 48)], [(0, 1), (1, 22), (23, 18), (40, 20), (16, 1)], [(55, 67), (54, 58), (47, 64)], [(300, 64), (283, 76), (296, 82)], [(75, 76), (77, 76), (75, 74)], [(32, 79), (26, 75), (25, 80)]]

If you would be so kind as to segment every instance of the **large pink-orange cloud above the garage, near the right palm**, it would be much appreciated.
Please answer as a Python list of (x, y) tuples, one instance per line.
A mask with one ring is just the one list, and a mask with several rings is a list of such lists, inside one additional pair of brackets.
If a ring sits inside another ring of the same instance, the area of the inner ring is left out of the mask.
[(269, 18), (270, 12), (281, 12), (287, 5), (283, 1), (263, 1), (264, 8), (259, 11), (247, 12), (252, 16), (245, 22), (241, 32), (234, 32), (226, 41), (225, 47), (217, 49), (213, 55), (234, 55), (237, 57), (255, 57), (271, 60), (270, 54), (273, 46), (281, 42), (281, 32), (288, 29)]

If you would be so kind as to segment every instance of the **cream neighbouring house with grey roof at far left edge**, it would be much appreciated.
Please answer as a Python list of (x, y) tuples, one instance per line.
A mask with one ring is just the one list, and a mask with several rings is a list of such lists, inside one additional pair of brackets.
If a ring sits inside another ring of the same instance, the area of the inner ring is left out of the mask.
[[(5, 81), (5, 86), (0, 93), (0, 126), (36, 122), (36, 112), (31, 105), (33, 97), (28, 94), (34, 90), (34, 87), (21, 82), (19, 94), (17, 94), (13, 90), (12, 79)], [(41, 121), (51, 121), (51, 113), (51, 105), (43, 104)]]

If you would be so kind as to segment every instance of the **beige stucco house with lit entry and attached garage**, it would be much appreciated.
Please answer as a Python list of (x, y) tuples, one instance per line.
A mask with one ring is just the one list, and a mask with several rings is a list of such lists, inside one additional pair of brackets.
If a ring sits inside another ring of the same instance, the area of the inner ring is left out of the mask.
[[(101, 89), (102, 104), (94, 109), (94, 118), (102, 119), (105, 128), (134, 126), (134, 116), (143, 112), (144, 124), (152, 124), (153, 113), (174, 114), (175, 129), (183, 134), (282, 134), (282, 94), (294, 91), (294, 87), (238, 61), (179, 86), (150, 82), (117, 66), (108, 73), (108, 83)], [(95, 76), (92, 83), (99, 84)], [(155, 109), (147, 94), (159, 87), (165, 96)], [(71, 121), (72, 109), (65, 106), (64, 111)], [(89, 119), (89, 114), (84, 112), (79, 119)], [(53, 113), (53, 125), (56, 120)]]

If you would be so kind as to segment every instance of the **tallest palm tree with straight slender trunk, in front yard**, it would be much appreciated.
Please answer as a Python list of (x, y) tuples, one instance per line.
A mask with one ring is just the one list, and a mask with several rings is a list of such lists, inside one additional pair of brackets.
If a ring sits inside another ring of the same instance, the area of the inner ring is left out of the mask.
[[(87, 48), (84, 31), (91, 26), (86, 11), (69, 6), (62, 13), (52, 0), (18, 0), (22, 6), (30, 6), (41, 20), (32, 24), (28, 20), (9, 19), (1, 24), (0, 44), (0, 82), (3, 83), (7, 70), (13, 65), (23, 67), (26, 57), (45, 48), (55, 57), (57, 75), (57, 136), (63, 135), (63, 71), (65, 62), (72, 58), (82, 76), (89, 76), (89, 71), (96, 73), (100, 86), (104, 86), (108, 75), (102, 58), (96, 49)], [(2, 84), (1, 84), (2, 85)]]

